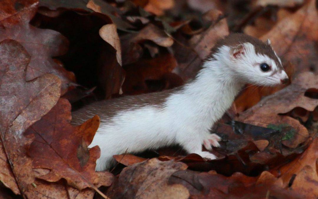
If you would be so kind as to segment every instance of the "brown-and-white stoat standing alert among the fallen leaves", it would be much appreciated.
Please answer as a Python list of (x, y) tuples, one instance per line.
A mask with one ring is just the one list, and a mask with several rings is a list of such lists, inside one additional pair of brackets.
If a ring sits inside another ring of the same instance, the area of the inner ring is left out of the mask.
[(185, 85), (157, 93), (104, 100), (72, 113), (81, 123), (100, 116), (89, 147), (100, 147), (96, 170), (110, 168), (114, 154), (179, 144), (188, 153), (215, 159), (220, 137), (210, 129), (232, 105), (246, 83), (275, 86), (288, 77), (270, 41), (230, 34), (212, 48), (196, 77)]

